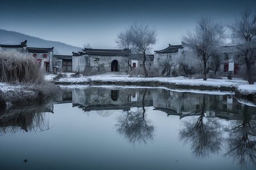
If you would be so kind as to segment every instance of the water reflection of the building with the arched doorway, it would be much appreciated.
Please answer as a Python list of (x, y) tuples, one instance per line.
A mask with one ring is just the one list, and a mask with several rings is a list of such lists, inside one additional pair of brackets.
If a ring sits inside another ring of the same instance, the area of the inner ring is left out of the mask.
[[(72, 103), (83, 111), (123, 110), (130, 111), (131, 107), (142, 107), (144, 89), (97, 88), (73, 89)], [(152, 96), (147, 91), (144, 106), (152, 106)]]

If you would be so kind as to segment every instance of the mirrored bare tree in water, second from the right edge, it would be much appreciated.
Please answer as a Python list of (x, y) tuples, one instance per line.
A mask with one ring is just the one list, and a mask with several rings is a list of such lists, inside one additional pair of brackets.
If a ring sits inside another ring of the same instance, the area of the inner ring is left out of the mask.
[(222, 135), (220, 124), (213, 118), (207, 118), (205, 111), (205, 95), (203, 107), (199, 118), (189, 119), (184, 122), (184, 128), (180, 131), (180, 140), (191, 143), (192, 154), (196, 157), (206, 158), (210, 154), (218, 153), (221, 149)]

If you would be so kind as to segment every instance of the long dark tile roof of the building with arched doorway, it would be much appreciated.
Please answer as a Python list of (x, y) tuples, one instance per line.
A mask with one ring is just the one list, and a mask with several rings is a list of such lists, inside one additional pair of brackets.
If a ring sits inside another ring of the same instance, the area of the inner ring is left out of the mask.
[(83, 49), (85, 54), (93, 56), (125, 56), (125, 50), (123, 49)]

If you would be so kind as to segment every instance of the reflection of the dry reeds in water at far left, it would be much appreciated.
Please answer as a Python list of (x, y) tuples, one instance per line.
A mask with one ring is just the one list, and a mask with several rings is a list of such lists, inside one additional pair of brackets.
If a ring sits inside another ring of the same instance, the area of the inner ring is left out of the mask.
[(0, 134), (13, 134), (16, 131), (43, 131), (51, 129), (47, 114), (52, 112), (48, 105), (31, 105), (7, 109), (0, 115)]

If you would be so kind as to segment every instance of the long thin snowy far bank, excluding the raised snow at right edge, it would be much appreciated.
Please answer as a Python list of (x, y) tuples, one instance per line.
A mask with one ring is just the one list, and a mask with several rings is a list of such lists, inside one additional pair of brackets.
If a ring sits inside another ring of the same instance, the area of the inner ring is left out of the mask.
[[(46, 75), (48, 81), (55, 84), (113, 84), (113, 85), (134, 85), (134, 86), (164, 86), (175, 89), (196, 89), (196, 90), (231, 90), (235, 91), (241, 85), (248, 84), (242, 79), (229, 80), (223, 79), (189, 79), (184, 76), (179, 77), (154, 77), (154, 78), (140, 78), (129, 77), (129, 75), (122, 73), (106, 73), (93, 76), (80, 76), (79, 78), (60, 78), (53, 80), (56, 75)], [(256, 91), (256, 90), (255, 90)]]

